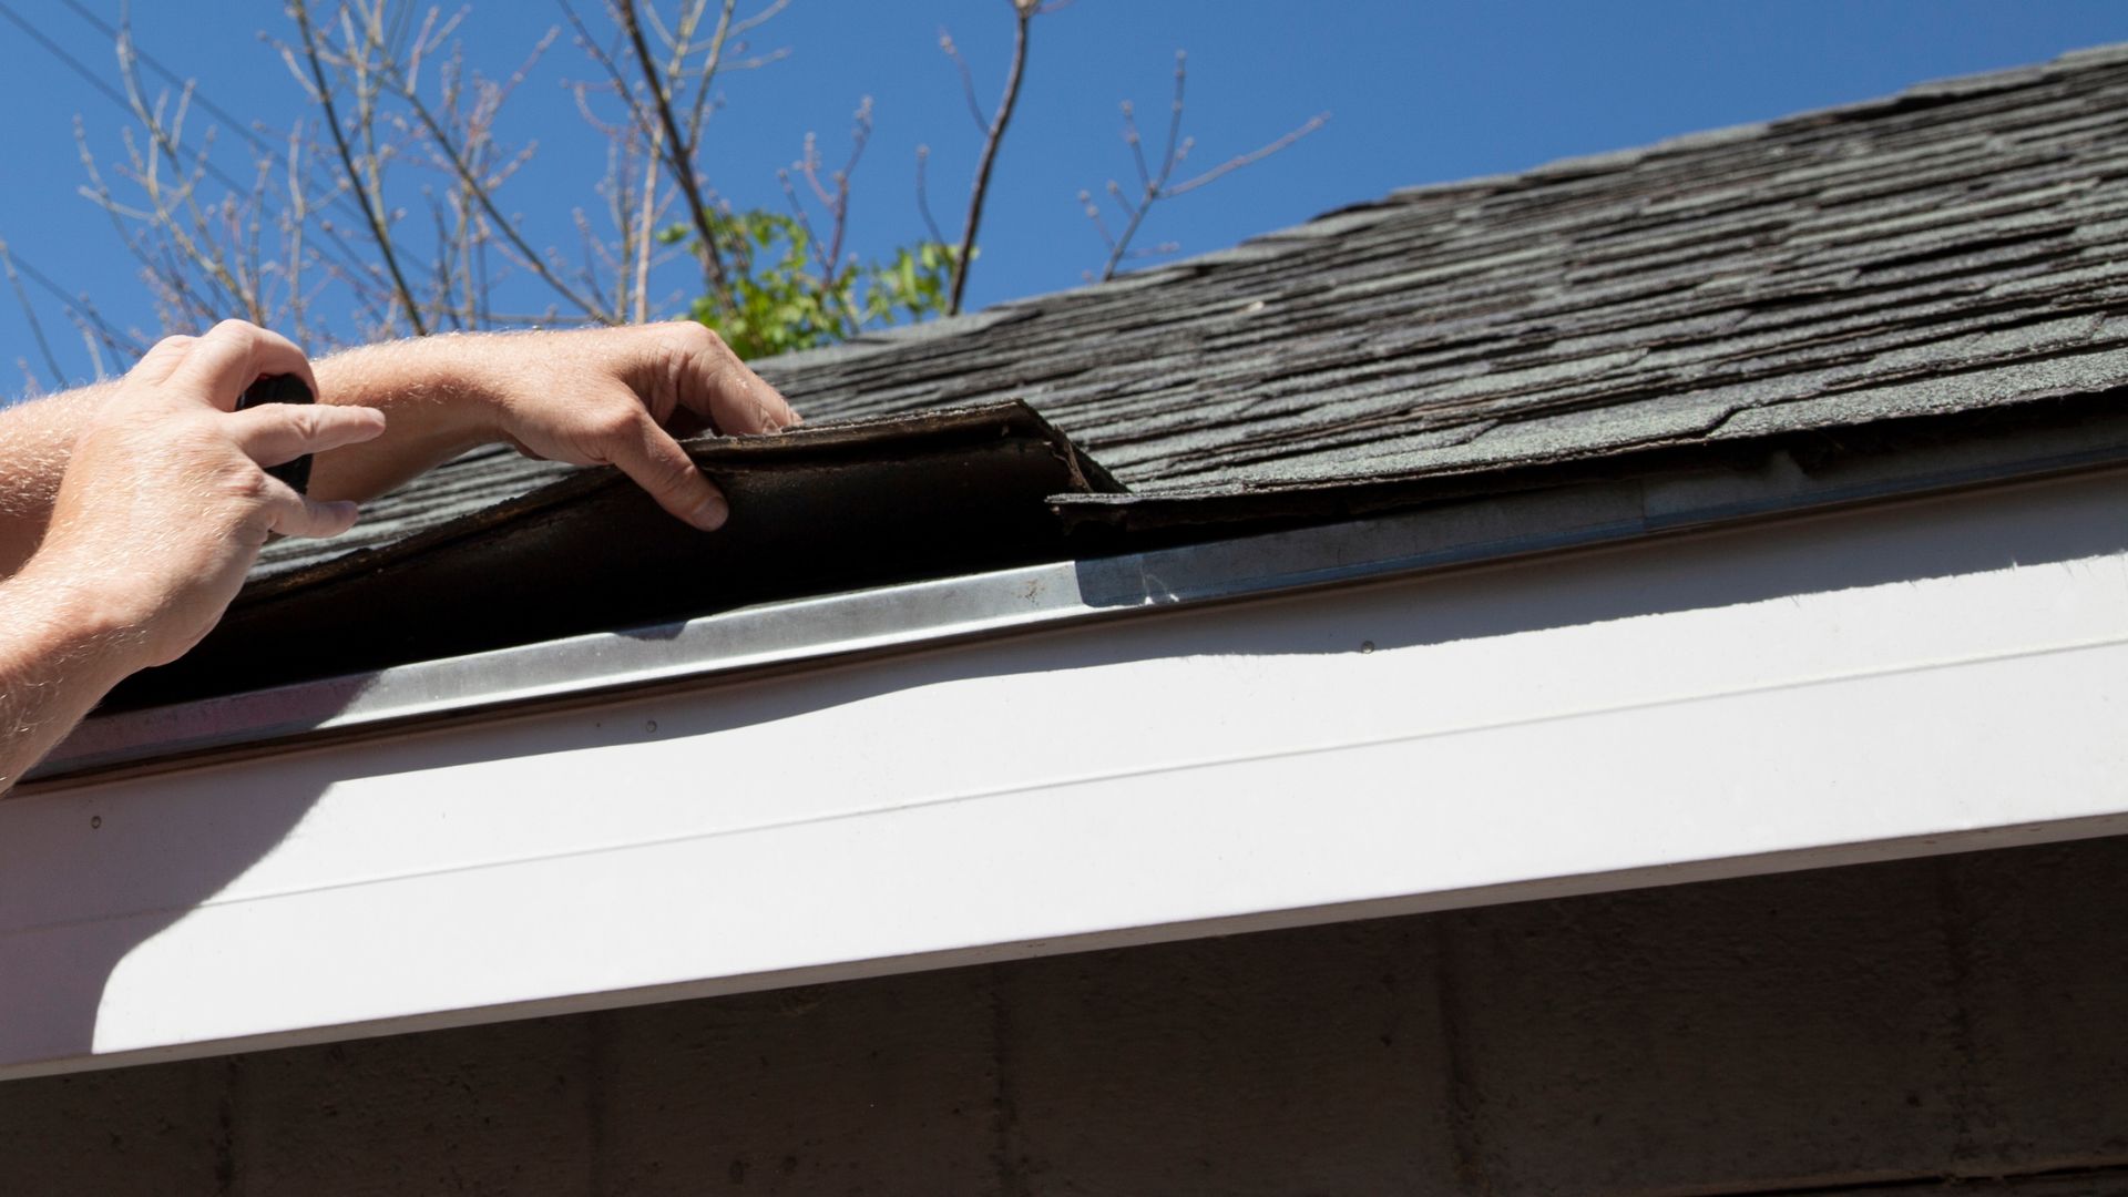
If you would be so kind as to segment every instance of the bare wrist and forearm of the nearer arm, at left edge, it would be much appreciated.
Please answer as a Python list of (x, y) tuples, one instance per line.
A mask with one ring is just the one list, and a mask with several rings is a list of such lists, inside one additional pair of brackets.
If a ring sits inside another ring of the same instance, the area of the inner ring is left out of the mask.
[(0, 581), (0, 794), (140, 665), (138, 633), (70, 573), (32, 560)]

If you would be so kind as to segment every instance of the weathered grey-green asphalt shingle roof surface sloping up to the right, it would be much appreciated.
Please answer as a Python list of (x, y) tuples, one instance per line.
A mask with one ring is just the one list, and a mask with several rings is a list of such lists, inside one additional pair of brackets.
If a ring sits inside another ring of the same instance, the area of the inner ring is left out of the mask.
[[(755, 362), (807, 422), (1019, 398), (1143, 496), (1362, 483), (2128, 381), (2128, 47), (1524, 175)], [(260, 573), (568, 466), (492, 449)]]

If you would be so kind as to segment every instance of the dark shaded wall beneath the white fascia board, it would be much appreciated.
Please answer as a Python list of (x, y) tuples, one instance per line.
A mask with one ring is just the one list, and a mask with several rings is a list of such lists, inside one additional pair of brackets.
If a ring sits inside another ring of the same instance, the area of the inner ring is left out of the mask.
[(2128, 839), (0, 1084), (21, 1197), (1943, 1178), (2128, 1193)]

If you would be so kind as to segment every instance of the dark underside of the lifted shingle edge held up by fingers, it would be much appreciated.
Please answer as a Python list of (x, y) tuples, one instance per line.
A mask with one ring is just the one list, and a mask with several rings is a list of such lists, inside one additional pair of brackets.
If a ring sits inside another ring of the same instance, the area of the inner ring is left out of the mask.
[(1070, 560), (1049, 498), (1115, 486), (1017, 403), (711, 437), (694, 458), (747, 520), (704, 535), (615, 471), (575, 471), (389, 545), (253, 579), (198, 647), (126, 679), (111, 705)]

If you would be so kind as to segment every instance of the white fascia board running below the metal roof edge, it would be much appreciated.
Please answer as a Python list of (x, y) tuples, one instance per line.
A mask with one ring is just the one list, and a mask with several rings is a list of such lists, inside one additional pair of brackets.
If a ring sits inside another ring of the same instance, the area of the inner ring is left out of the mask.
[(0, 803), (0, 1076), (2128, 831), (2128, 475)]

